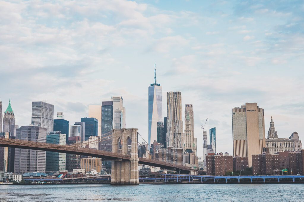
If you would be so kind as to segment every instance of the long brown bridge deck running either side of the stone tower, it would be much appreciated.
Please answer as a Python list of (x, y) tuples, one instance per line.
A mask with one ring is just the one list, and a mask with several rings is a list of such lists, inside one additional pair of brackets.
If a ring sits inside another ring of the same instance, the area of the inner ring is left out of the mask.
[[(118, 159), (130, 160), (130, 155), (117, 154), (117, 153), (100, 151), (95, 149), (88, 149), (73, 144), (60, 145), (60, 144), (49, 144), (49, 143), (33, 142), (33, 141), (18, 140), (18, 139), (0, 138), (0, 146), (21, 148), (21, 149), (42, 150), (42, 151), (53, 151), (53, 152), (68, 153), (68, 154), (79, 154), (83, 156), (98, 157), (109, 160), (118, 160)], [(138, 163), (150, 165), (150, 166), (162, 167), (171, 170), (186, 171), (186, 172), (194, 170), (186, 166), (170, 164), (167, 162), (146, 159), (146, 158), (139, 158)]]

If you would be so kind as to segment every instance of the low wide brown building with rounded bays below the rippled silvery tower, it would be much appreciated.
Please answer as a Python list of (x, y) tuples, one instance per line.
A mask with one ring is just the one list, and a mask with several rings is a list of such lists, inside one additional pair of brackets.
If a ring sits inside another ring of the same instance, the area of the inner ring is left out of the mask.
[(158, 150), (158, 160), (176, 165), (183, 165), (183, 149), (182, 148), (163, 148)]

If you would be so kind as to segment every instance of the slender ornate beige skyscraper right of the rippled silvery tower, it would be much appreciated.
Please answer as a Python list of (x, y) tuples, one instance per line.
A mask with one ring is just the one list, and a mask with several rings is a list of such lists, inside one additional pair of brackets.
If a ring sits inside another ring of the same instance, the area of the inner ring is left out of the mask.
[(186, 104), (185, 106), (185, 150), (186, 149), (191, 149), (196, 154), (192, 104)]

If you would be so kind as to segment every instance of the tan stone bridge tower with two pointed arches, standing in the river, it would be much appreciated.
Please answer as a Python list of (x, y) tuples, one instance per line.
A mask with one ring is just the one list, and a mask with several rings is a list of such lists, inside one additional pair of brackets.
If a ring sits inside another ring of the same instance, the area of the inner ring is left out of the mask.
[(112, 135), (112, 152), (128, 154), (128, 143), (131, 142), (131, 158), (112, 161), (111, 184), (139, 184), (137, 128), (114, 129)]

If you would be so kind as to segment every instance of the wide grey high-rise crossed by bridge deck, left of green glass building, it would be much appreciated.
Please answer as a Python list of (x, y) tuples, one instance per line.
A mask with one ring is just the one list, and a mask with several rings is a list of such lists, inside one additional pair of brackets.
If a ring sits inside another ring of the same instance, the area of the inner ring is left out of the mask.
[[(45, 143), (47, 129), (39, 126), (21, 126), (16, 129), (16, 139)], [(14, 173), (45, 173), (46, 151), (15, 149)]]

